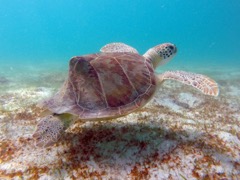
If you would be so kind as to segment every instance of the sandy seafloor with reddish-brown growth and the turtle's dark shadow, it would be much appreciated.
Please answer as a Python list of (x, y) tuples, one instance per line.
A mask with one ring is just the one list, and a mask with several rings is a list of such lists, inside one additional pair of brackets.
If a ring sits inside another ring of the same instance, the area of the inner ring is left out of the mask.
[(240, 179), (239, 68), (195, 67), (219, 83), (218, 97), (168, 81), (140, 111), (76, 123), (49, 148), (32, 139), (43, 111), (37, 103), (57, 91), (66, 71), (6, 68), (0, 179)]

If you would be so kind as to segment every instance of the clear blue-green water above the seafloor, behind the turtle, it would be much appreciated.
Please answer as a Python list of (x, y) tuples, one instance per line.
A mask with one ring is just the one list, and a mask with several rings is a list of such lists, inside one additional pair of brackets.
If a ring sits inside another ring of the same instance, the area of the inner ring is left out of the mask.
[(141, 53), (173, 42), (179, 48), (174, 61), (181, 64), (224, 67), (240, 61), (238, 0), (1, 0), (0, 4), (1, 65), (65, 63), (114, 41)]

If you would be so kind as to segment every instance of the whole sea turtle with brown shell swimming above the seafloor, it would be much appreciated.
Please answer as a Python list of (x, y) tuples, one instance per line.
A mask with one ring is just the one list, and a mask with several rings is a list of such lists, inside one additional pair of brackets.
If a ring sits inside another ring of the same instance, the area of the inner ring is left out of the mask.
[(164, 80), (218, 95), (217, 83), (207, 76), (185, 71), (154, 72), (176, 54), (174, 44), (157, 45), (143, 56), (124, 43), (110, 43), (100, 51), (70, 60), (67, 80), (42, 103), (51, 114), (37, 124), (33, 134), (37, 146), (55, 143), (74, 120), (106, 120), (136, 111), (149, 102)]

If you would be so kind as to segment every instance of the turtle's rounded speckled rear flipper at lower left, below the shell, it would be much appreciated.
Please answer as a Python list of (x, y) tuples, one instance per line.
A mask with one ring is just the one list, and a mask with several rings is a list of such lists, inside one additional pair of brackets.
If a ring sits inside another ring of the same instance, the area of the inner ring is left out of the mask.
[(33, 134), (36, 146), (48, 147), (53, 145), (64, 132), (64, 123), (58, 116), (48, 115), (40, 120)]

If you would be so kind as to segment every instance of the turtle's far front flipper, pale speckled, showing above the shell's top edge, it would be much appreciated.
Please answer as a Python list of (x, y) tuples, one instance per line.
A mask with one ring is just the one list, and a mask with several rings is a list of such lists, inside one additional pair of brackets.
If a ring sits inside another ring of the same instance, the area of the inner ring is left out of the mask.
[(130, 52), (138, 54), (138, 51), (124, 43), (110, 43), (106, 44), (100, 49), (101, 52), (113, 53), (113, 52)]

